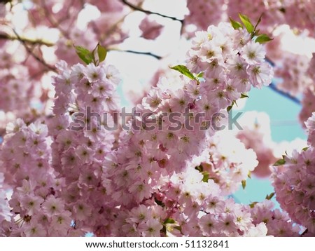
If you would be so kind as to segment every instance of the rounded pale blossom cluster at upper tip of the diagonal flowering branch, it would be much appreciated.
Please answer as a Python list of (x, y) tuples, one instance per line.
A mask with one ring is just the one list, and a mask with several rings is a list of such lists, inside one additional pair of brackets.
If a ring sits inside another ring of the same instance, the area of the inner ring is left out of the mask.
[(272, 79), (263, 46), (252, 41), (245, 29), (235, 30), (225, 22), (196, 32), (187, 62), (192, 72), (204, 73), (202, 86), (220, 106), (237, 100), (251, 85), (261, 88)]

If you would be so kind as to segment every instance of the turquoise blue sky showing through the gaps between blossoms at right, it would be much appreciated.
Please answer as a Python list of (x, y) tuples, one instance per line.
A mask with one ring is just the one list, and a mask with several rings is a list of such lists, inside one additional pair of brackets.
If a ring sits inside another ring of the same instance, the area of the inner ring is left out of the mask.
[[(252, 89), (248, 93), (248, 100), (241, 111), (265, 111), (270, 118), (272, 140), (282, 142), (292, 141), (295, 138), (306, 140), (306, 134), (298, 121), (301, 105), (296, 104), (287, 97), (275, 93), (271, 88), (264, 87), (262, 90)], [(267, 194), (274, 191), (269, 179), (247, 179), (246, 188), (239, 189), (234, 196), (241, 203), (262, 201)], [(275, 198), (272, 199), (275, 201)], [(276, 203), (276, 207), (279, 204)]]

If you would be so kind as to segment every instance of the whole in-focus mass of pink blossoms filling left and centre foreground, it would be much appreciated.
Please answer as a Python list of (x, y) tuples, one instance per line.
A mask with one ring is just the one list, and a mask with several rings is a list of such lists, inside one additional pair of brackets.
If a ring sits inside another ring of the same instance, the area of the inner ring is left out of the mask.
[[(267, 85), (272, 72), (246, 31), (221, 23), (206, 35), (189, 53), (202, 63), (190, 59), (186, 67), (194, 73), (200, 67), (202, 79), (192, 73), (160, 79), (122, 132), (106, 130), (118, 123), (116, 68), (59, 62), (54, 116), (28, 126), (19, 119), (4, 137), (1, 161), (16, 215), (6, 235), (265, 236), (264, 224), (251, 223), (248, 206), (227, 200), (220, 188), (227, 186), (205, 179), (190, 163), (205, 150), (213, 161), (226, 155), (216, 168), (239, 185), (255, 167), (255, 154), (238, 140), (245, 162), (234, 149), (217, 154), (221, 142), (212, 136), (225, 123), (223, 109), (251, 84)], [(230, 165), (232, 176), (225, 172)]]

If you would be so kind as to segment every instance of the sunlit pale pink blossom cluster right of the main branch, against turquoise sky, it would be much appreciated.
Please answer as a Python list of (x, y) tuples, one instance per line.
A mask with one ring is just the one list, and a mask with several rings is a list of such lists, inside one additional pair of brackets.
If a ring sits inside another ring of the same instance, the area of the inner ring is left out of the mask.
[(216, 133), (207, 142), (209, 146), (193, 164), (220, 186), (223, 195), (234, 193), (258, 164), (253, 149), (246, 149), (240, 140), (226, 132)]

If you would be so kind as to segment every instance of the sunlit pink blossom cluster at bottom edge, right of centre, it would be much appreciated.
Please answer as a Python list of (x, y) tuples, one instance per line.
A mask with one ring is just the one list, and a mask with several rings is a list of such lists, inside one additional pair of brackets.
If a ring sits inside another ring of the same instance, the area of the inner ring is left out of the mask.
[[(171, 216), (184, 236), (250, 236), (256, 229), (248, 206), (226, 199), (218, 184), (212, 179), (204, 182), (198, 170), (174, 175), (167, 186), (162, 202), (176, 209)], [(265, 236), (265, 226), (259, 228), (258, 235)], [(175, 236), (179, 234), (176, 228), (171, 230)]]

